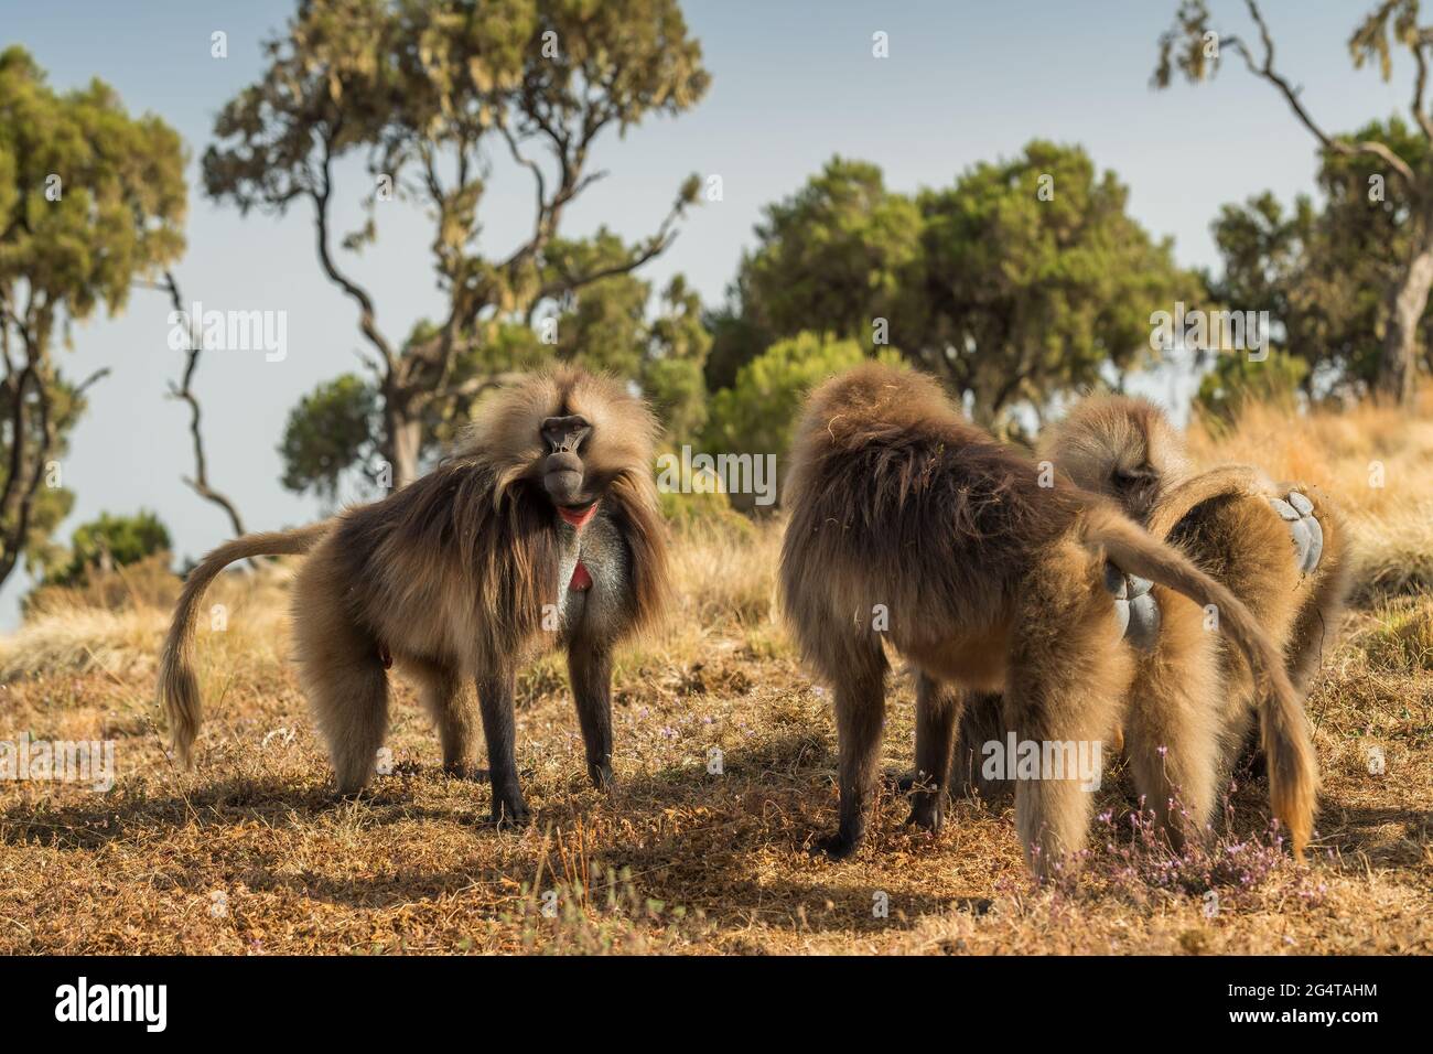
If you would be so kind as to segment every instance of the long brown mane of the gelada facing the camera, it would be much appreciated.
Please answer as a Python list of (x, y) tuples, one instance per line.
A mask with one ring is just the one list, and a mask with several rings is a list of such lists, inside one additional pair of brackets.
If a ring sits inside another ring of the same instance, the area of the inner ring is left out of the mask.
[[(619, 384), (576, 370), (537, 374), (499, 391), (474, 424), (430, 473), (390, 498), (342, 516), (341, 551), (353, 581), (373, 568), (406, 568), (413, 588), (454, 585), (473, 598), (476, 625), (489, 654), (513, 652), (542, 630), (543, 608), (556, 602), (559, 521), (542, 489), (546, 417), (580, 413), (593, 424), (582, 452), (585, 472), (605, 486), (603, 515), (622, 528), (632, 549), (631, 602), (635, 627), (665, 609), (665, 525), (652, 478), (656, 424)], [(383, 589), (354, 597), (365, 605), (394, 598)], [(373, 621), (364, 618), (364, 621)]]

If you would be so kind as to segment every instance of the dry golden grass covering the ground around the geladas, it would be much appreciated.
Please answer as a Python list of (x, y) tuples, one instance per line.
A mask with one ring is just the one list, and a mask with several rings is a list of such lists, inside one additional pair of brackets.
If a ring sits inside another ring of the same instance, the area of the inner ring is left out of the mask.
[[(1224, 842), (1251, 866), (1155, 880), (1166, 862), (1129, 833), (1118, 767), (1086, 866), (1046, 889), (1003, 803), (960, 800), (930, 836), (887, 792), (856, 859), (808, 856), (834, 822), (834, 733), (771, 621), (778, 525), (688, 523), (682, 609), (619, 663), (612, 797), (586, 786), (562, 664), (524, 674), (519, 759), (537, 820), (519, 833), (486, 826), (486, 786), (440, 773), (406, 687), (394, 773), (332, 800), (285, 661), (288, 569), (215, 594), (228, 628), (201, 634), (193, 774), (172, 769), (153, 724), (166, 612), (50, 598), (0, 642), (0, 737), (115, 739), (119, 780), (106, 794), (0, 783), (0, 952), (1433, 952), (1433, 538), (1417, 519), (1433, 426), (1255, 410), (1197, 449), (1326, 483), (1364, 546), (1369, 602), (1310, 698), (1324, 794), (1307, 866), (1260, 848), (1255, 783), (1232, 794)], [(1381, 490), (1363, 485), (1370, 460)], [(911, 710), (901, 678), (891, 771), (910, 764)]]

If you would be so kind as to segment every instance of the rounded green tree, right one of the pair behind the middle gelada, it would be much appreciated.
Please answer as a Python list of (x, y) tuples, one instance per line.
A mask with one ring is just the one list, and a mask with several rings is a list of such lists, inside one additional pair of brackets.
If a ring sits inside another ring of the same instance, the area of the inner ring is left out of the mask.
[(1020, 402), (1039, 412), (1144, 361), (1151, 313), (1198, 287), (1128, 201), (1083, 149), (1043, 141), (923, 191), (924, 330), (913, 344), (893, 328), (896, 343), (997, 429)]

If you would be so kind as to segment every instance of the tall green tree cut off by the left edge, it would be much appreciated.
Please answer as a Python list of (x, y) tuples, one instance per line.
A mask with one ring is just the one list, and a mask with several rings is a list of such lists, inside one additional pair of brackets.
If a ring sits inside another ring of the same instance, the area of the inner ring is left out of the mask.
[(59, 95), (20, 47), (0, 53), (0, 582), (67, 511), (59, 457), (105, 374), (69, 383), (54, 343), (183, 250), (183, 148), (99, 80)]

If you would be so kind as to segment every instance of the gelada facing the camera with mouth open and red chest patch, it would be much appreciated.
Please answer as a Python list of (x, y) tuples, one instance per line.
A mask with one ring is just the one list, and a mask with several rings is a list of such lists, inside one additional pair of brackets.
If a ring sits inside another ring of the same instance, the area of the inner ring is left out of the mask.
[(567, 650), (588, 774), (606, 784), (612, 647), (665, 609), (655, 432), (642, 402), (613, 381), (537, 376), (499, 393), (449, 459), (381, 502), (219, 546), (189, 575), (160, 663), (181, 761), (199, 728), (192, 651), (205, 588), (245, 556), (312, 551), (294, 582), (294, 638), (341, 793), (373, 777), (397, 665), (417, 681), (453, 773), (474, 760), (477, 723), (461, 685), (476, 683), (493, 819), (523, 822), (513, 677), (555, 645)]

